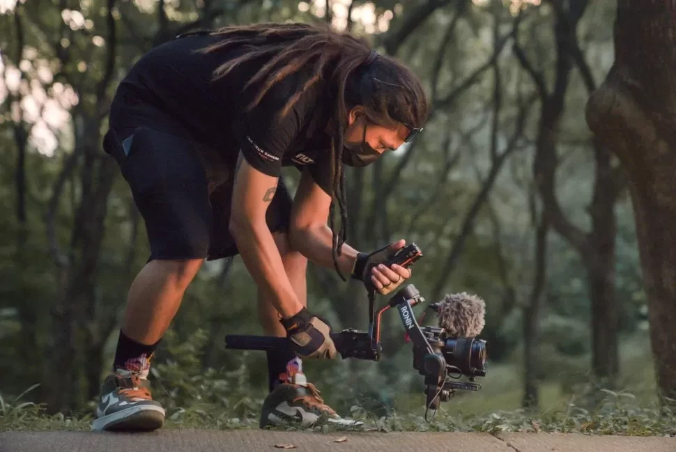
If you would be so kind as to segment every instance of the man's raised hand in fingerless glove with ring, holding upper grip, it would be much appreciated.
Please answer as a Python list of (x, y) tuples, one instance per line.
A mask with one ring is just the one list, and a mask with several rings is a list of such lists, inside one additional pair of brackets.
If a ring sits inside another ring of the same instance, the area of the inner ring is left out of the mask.
[[(386, 267), (382, 262), (384, 262), (388, 256), (394, 254), (395, 251), (404, 248), (406, 245), (406, 240), (399, 240), (398, 242), (391, 243), (387, 247), (378, 249), (371, 254), (364, 255), (361, 254), (358, 260), (362, 260), (360, 264), (366, 267), (369, 264), (376, 264), (371, 267), (371, 272), (364, 271), (364, 274), (359, 274), (358, 268), (361, 265), (355, 266), (357, 270), (353, 277), (361, 279), (364, 283), (370, 280), (371, 286), (376, 290), (377, 293), (381, 295), (387, 295), (392, 293), (394, 290), (397, 290), (401, 283), (404, 283), (406, 279), (409, 279), (411, 276), (411, 271), (404, 267), (401, 267), (397, 264), (390, 265)], [(364, 268), (366, 270), (366, 268)], [(361, 277), (360, 277), (361, 276)], [(367, 285), (368, 286), (368, 285)]]

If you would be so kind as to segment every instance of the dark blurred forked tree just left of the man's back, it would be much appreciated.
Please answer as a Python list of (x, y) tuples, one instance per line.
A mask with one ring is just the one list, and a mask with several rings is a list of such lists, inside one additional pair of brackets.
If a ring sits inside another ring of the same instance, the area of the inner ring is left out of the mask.
[[(75, 147), (56, 179), (47, 210), (49, 246), (60, 283), (60, 293), (52, 309), (54, 344), (49, 360), (49, 378), (44, 385), (49, 410), (52, 412), (79, 407), (82, 403), (77, 373), (73, 372), (78, 368), (75, 365), (78, 358), (84, 359), (86, 363), (81, 368), (89, 386), (87, 395), (95, 393), (91, 386), (95, 384), (97, 388), (99, 384), (102, 343), (115, 321), (114, 317), (108, 316), (103, 323), (100, 322), (98, 314), (101, 307), (96, 296), (96, 276), (107, 201), (116, 176), (114, 162), (100, 150), (102, 121), (107, 116), (109, 87), (116, 68), (118, 42), (114, 18), (115, 3), (116, 0), (108, 0), (105, 6), (106, 48), (100, 65), (95, 64), (99, 61), (94, 57), (98, 52), (93, 40), (76, 37), (72, 33), (75, 28), (73, 26), (67, 31), (66, 20), (59, 24), (59, 31), (56, 33), (58, 38), (49, 42), (59, 59), (61, 75), (75, 88), (79, 99), (71, 111)], [(61, 4), (60, 11), (64, 10), (65, 2)], [(34, 10), (33, 14), (33, 17), (38, 17), (39, 12)], [(73, 42), (78, 39), (79, 42)], [(68, 42), (68, 45), (64, 42)], [(86, 79), (75, 71), (70, 72), (77, 67), (76, 62), (81, 67), (82, 63), (87, 64), (85, 62), (93, 65)], [(98, 79), (95, 79), (97, 75)], [(75, 176), (75, 170), (80, 164), (79, 184), (82, 192), (75, 207), (68, 251), (63, 251), (56, 237), (54, 219), (66, 181)], [(81, 348), (78, 343), (84, 346)]]

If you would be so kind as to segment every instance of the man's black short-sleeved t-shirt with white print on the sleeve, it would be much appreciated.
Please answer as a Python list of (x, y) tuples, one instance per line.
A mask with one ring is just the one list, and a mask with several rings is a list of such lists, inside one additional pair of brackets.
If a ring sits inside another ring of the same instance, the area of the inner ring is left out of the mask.
[(286, 101), (309, 77), (301, 71), (272, 86), (256, 107), (246, 111), (260, 84), (243, 88), (267, 59), (241, 63), (214, 81), (219, 65), (245, 52), (242, 47), (196, 52), (219, 39), (194, 35), (155, 47), (121, 81), (118, 93), (135, 98), (141, 108), (152, 104), (160, 109), (172, 123), (180, 123), (181, 134), (206, 143), (232, 167), (240, 150), (250, 165), (269, 176), (279, 176), (282, 166), (307, 167), (315, 182), (331, 194), (330, 137), (324, 132), (329, 111), (321, 108), (329, 104), (327, 90), (320, 86), (306, 90), (279, 118)]

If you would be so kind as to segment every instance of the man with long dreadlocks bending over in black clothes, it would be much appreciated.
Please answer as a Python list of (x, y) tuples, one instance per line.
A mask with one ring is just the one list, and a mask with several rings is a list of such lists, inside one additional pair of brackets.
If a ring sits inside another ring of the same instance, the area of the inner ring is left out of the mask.
[[(381, 294), (410, 277), (397, 265), (365, 270), (404, 240), (371, 253), (346, 244), (343, 166), (399, 148), (426, 118), (410, 70), (326, 26), (231, 26), (144, 55), (118, 86), (104, 148), (130, 186), (151, 256), (129, 290), (92, 428), (162, 426), (147, 380), (155, 348), (203, 260), (236, 254), (259, 288), (265, 334), (288, 338), (292, 350), (268, 354), (261, 428), (348, 422), (302, 373), (302, 359), (336, 354), (330, 325), (306, 307), (307, 262)], [(283, 166), (302, 174), (293, 198)]]

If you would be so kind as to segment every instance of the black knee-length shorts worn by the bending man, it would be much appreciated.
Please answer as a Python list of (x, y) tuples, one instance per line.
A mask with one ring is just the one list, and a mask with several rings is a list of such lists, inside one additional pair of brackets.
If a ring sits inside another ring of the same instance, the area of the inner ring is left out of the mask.
[[(142, 110), (145, 114), (111, 109), (104, 149), (118, 162), (146, 224), (148, 260), (235, 256), (238, 249), (229, 233), (230, 165), (205, 164), (204, 144), (162, 119), (161, 111)], [(270, 231), (287, 231), (291, 204), (280, 178), (266, 215)]]

